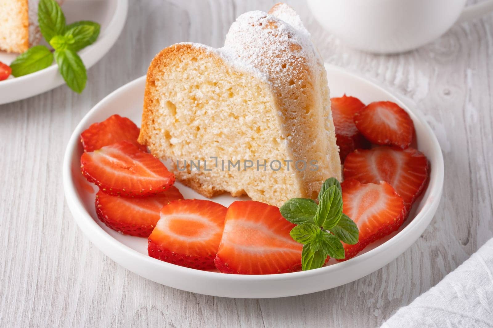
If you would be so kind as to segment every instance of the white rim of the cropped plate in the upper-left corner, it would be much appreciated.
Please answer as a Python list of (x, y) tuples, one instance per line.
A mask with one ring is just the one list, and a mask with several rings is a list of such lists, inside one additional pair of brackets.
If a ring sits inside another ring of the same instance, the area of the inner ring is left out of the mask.
[[(94, 64), (96, 64), (99, 60), (101, 60), (103, 57), (105, 57), (107, 52), (111, 49), (111, 47), (114, 45), (114, 43), (120, 36), (125, 26), (125, 22), (127, 20), (127, 15), (128, 15), (128, 0), (115, 0), (115, 1), (116, 1), (115, 11), (113, 12), (113, 15), (106, 29), (103, 31), (100, 37), (98, 37), (95, 43), (93, 43), (90, 46), (87, 46), (86, 48), (78, 52), (78, 55), (84, 62), (84, 65), (86, 66), (87, 70), (91, 68)], [(99, 51), (100, 46), (102, 49), (105, 48), (106, 49), (100, 52)], [(27, 99), (37, 94), (59, 87), (60, 85), (64, 84), (65, 81), (62, 78), (62, 76), (57, 73), (58, 73), (58, 65), (52, 63), (50, 66), (43, 68), (39, 71), (36, 71), (34, 73), (0, 81), (0, 90), (8, 89), (8, 88), (19, 88), (22, 84), (27, 83), (28, 81), (33, 81), (42, 78), (43, 75), (44, 77), (48, 77), (49, 74), (55, 74), (55, 79), (50, 83), (48, 89), (42, 88), (43, 89), (42, 91), (36, 92), (34, 94), (29, 93), (30, 95), (28, 96), (22, 96), (20, 98), (14, 97), (13, 100), (7, 100), (6, 102), (0, 101), (0, 105), (8, 104), (10, 102), (14, 102), (18, 100)]]

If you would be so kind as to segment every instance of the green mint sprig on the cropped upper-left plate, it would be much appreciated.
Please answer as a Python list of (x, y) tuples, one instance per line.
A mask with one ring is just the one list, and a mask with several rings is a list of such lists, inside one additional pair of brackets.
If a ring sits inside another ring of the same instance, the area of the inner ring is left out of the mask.
[(101, 26), (92, 21), (66, 25), (62, 8), (55, 0), (40, 0), (37, 15), (41, 34), (53, 50), (42, 45), (30, 48), (11, 63), (12, 75), (34, 73), (50, 66), (55, 59), (67, 86), (77, 93), (82, 92), (87, 72), (77, 51), (96, 41)]

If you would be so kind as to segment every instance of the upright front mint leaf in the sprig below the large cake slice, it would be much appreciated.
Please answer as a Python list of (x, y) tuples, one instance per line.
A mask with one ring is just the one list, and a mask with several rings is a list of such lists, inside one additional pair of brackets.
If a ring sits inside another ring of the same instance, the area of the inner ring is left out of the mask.
[(325, 230), (331, 230), (340, 220), (342, 214), (342, 193), (336, 185), (325, 190), (318, 203), (315, 224)]

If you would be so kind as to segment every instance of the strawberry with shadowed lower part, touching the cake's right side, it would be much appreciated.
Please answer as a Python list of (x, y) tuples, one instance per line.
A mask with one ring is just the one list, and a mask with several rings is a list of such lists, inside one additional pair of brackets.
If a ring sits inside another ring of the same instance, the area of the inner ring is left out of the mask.
[(336, 130), (339, 157), (344, 162), (346, 156), (354, 149), (367, 149), (370, 143), (359, 133), (354, 125), (354, 114), (365, 107), (358, 98), (344, 95), (340, 98), (330, 99), (332, 106), (332, 119)]

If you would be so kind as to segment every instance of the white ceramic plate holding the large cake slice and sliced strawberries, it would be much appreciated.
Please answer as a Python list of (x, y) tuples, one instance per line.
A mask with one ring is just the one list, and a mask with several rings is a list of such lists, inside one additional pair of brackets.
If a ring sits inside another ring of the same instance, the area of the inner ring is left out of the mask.
[[(155, 282), (185, 291), (234, 298), (274, 298), (302, 295), (326, 290), (359, 279), (395, 259), (423, 233), (438, 207), (443, 187), (444, 166), (438, 141), (423, 117), (408, 108), (396, 96), (341, 68), (327, 65), (332, 96), (344, 93), (363, 102), (390, 100), (403, 107), (414, 121), (417, 147), (431, 164), (431, 175), (424, 195), (417, 201), (411, 215), (398, 232), (374, 242), (358, 256), (345, 261), (331, 260), (330, 265), (309, 271), (271, 274), (237, 275), (183, 268), (147, 256), (147, 239), (121, 235), (107, 228), (94, 209), (97, 187), (80, 174), (82, 146), (80, 133), (94, 122), (110, 115), (129, 117), (141, 122), (145, 77), (117, 89), (98, 103), (77, 125), (70, 137), (63, 163), (64, 189), (67, 203), (82, 232), (107, 256), (123, 267)], [(200, 198), (193, 190), (176, 183), (185, 198)], [(237, 199), (237, 198), (236, 198)], [(225, 206), (236, 200), (218, 196), (213, 200)]]

